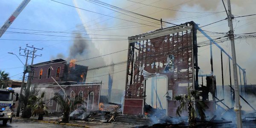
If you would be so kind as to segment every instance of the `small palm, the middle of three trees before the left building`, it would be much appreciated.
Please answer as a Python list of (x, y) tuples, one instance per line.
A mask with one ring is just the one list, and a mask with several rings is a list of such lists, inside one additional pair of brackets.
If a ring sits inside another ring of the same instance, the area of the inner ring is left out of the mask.
[[(29, 100), (35, 101), (35, 104), (31, 106), (32, 108), (32, 115), (38, 114), (38, 120), (43, 120), (44, 115), (48, 115), (47, 106), (44, 101), (44, 95), (45, 92), (41, 93), (41, 95), (38, 96), (32, 96)], [(30, 107), (30, 106), (28, 106)]]

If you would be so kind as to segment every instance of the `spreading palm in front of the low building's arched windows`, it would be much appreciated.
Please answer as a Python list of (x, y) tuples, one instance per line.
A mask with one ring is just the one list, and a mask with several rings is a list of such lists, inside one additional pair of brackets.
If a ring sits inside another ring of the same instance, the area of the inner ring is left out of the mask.
[(69, 99), (64, 99), (59, 93), (55, 93), (55, 96), (51, 99), (60, 105), (63, 116), (61, 117), (61, 122), (68, 123), (70, 112), (75, 109), (75, 106), (82, 104), (83, 100), (76, 97), (74, 102), (70, 102)]

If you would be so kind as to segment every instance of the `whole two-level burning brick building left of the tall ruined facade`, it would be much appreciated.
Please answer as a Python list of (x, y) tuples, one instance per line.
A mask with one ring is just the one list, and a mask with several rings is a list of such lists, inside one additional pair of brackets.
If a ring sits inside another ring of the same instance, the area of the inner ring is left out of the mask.
[[(71, 92), (85, 102), (77, 107), (87, 108), (87, 111), (99, 109), (101, 83), (85, 83), (88, 67), (75, 64), (75, 61), (68, 63), (63, 59), (56, 59), (34, 64), (32, 67), (31, 86), (37, 85), (41, 92), (45, 92), (44, 100), (50, 112), (60, 112), (58, 104), (50, 100), (55, 93), (66, 99)], [(64, 88), (64, 92), (60, 86)]]

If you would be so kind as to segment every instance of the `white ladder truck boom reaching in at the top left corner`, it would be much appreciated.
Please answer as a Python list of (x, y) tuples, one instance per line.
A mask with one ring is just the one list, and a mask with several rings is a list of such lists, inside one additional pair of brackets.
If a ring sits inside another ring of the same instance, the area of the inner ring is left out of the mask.
[(17, 18), (20, 12), (26, 7), (26, 5), (30, 2), (30, 0), (23, 0), (22, 3), (17, 7), (17, 9), (12, 13), (12, 15), (6, 20), (3, 26), (0, 29), (0, 38), (6, 32), (6, 30), (11, 26), (12, 22)]

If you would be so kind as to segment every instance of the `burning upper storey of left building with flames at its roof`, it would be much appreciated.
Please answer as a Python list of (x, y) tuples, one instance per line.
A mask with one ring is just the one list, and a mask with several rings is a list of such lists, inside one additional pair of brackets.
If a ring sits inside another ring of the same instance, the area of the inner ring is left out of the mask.
[(88, 67), (75, 64), (74, 61), (71, 60), (67, 64), (67, 61), (63, 59), (56, 59), (34, 64), (32, 67), (31, 84), (53, 83), (54, 80), (51, 77), (58, 82), (85, 82)]

